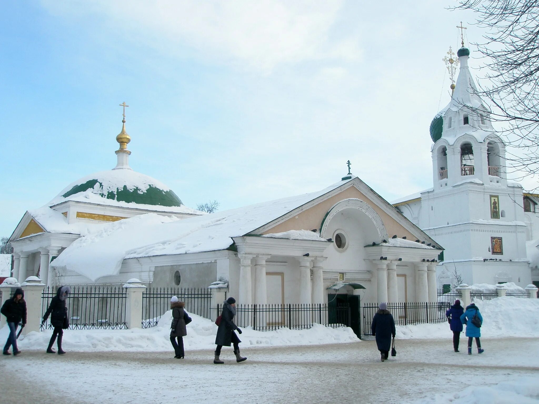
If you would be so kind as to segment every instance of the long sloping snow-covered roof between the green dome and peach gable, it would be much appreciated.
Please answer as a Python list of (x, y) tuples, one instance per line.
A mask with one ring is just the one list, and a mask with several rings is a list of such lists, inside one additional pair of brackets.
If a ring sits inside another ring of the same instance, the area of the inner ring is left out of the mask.
[(232, 237), (251, 233), (354, 178), (316, 192), (182, 220), (149, 213), (93, 226), (51, 266), (69, 268), (95, 281), (118, 274), (123, 259), (223, 250), (231, 246)]

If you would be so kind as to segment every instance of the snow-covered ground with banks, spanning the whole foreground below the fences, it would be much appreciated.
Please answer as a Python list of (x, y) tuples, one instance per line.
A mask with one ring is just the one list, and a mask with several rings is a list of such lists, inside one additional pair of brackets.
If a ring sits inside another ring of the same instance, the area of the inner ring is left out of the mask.
[(374, 340), (320, 325), (245, 329), (247, 361), (237, 364), (224, 347), (224, 365), (212, 363), (216, 326), (197, 316), (180, 360), (172, 358), (169, 313), (148, 330), (67, 330), (65, 356), (44, 352), (50, 331), (31, 333), (20, 356), (0, 358), (0, 402), (539, 403), (539, 299), (477, 304), (481, 355), (466, 354), (464, 335), (453, 352), (447, 323), (425, 324), (398, 327), (397, 356), (384, 363)]

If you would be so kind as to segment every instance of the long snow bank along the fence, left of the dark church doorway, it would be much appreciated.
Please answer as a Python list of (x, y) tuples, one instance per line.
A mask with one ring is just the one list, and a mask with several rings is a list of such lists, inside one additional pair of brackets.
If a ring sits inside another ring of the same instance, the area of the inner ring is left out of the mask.
[[(187, 325), (183, 337), (186, 350), (215, 349), (217, 325), (209, 319), (190, 314), (193, 321)], [(172, 311), (167, 311), (158, 325), (149, 329), (134, 330), (66, 330), (64, 348), (70, 351), (171, 351), (170, 323)], [(277, 331), (254, 331), (241, 329), (241, 346), (316, 345), (357, 342), (350, 328), (333, 329), (314, 324), (309, 330), (280, 329)], [(7, 326), (0, 330), (0, 340), (8, 337)], [(45, 350), (52, 331), (31, 332), (19, 341), (19, 348)]]

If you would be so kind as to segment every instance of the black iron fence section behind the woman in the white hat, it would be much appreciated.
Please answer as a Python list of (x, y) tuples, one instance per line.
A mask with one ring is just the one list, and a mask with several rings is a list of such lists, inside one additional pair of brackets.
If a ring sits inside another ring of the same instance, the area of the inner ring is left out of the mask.
[(170, 310), (170, 298), (185, 302), (185, 310), (210, 318), (211, 291), (206, 288), (147, 288), (142, 292), (142, 328), (154, 327)]

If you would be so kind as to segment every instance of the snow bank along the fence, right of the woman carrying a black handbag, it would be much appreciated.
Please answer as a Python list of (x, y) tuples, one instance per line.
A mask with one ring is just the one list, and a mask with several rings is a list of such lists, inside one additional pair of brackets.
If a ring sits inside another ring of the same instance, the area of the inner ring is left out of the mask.
[[(539, 299), (497, 297), (475, 304), (483, 316), (481, 337), (538, 337)], [(397, 338), (450, 338), (447, 322), (440, 324), (398, 325)]]

